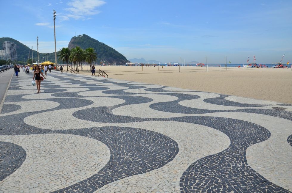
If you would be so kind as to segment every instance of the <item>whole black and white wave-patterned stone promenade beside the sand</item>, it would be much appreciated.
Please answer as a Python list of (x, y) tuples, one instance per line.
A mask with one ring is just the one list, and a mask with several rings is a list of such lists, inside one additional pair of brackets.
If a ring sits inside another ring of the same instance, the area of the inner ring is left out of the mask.
[(291, 192), (292, 105), (53, 71), (13, 75), (0, 192)]

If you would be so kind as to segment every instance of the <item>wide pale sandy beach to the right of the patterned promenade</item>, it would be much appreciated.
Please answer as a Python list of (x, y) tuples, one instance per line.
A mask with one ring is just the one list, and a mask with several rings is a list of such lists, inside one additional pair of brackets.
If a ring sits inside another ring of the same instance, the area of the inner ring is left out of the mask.
[[(292, 104), (291, 68), (95, 66), (108, 78)], [(65, 67), (65, 72), (66, 72)], [(142, 71), (143, 70), (143, 71)], [(88, 74), (87, 66), (79, 73)]]

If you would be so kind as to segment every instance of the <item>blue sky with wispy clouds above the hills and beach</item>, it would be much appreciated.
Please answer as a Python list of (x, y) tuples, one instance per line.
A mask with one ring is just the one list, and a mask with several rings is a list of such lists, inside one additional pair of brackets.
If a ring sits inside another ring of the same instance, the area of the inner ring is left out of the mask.
[[(0, 37), (39, 52), (57, 51), (86, 34), (127, 59), (163, 63), (292, 61), (292, 1), (0, 0)], [(98, 53), (97, 53), (98, 54)], [(291, 63), (291, 62), (290, 62)]]

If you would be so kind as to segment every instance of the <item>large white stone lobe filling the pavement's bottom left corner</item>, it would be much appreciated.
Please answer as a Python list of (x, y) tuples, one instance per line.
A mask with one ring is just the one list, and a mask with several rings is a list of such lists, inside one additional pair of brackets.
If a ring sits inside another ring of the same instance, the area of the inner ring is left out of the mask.
[(98, 172), (110, 157), (106, 145), (84, 136), (35, 134), (0, 136), (0, 140), (20, 145), (27, 153), (24, 163), (0, 181), (0, 192), (65, 188)]

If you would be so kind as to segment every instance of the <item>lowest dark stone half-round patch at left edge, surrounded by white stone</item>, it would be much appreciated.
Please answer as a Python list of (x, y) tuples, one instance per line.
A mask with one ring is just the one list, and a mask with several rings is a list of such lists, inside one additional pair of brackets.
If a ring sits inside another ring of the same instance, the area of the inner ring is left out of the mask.
[(0, 141), (0, 181), (17, 170), (25, 158), (26, 152), (21, 146)]

